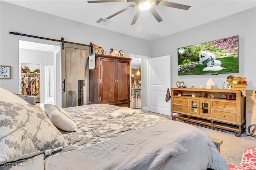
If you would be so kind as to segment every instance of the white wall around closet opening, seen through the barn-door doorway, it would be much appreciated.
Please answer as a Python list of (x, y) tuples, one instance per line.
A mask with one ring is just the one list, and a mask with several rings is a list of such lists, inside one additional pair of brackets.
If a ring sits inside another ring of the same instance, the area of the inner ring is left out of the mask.
[(54, 65), (54, 53), (49, 51), (40, 51), (33, 49), (19, 50), (20, 63), (30, 63), (40, 65), (40, 101), (45, 101), (45, 66)]

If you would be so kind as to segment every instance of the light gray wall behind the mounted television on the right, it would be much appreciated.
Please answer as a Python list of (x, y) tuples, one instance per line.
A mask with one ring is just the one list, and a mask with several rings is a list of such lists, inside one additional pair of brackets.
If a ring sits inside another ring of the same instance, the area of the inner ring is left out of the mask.
[(206, 86), (212, 78), (215, 88), (221, 88), (230, 74), (219, 75), (182, 75), (178, 76), (177, 48), (238, 35), (239, 38), (239, 73), (236, 77), (246, 77), (246, 89), (256, 89), (256, 8), (240, 12), (202, 26), (155, 40), (151, 44), (152, 57), (171, 55), (172, 87), (176, 81), (184, 81), (187, 87)]

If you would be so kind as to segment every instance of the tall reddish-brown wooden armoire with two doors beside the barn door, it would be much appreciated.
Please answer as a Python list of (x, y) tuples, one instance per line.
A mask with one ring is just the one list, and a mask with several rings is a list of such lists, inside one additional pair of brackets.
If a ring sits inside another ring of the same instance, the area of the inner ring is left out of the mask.
[(95, 69), (89, 70), (90, 104), (130, 107), (131, 60), (112, 55), (95, 55)]

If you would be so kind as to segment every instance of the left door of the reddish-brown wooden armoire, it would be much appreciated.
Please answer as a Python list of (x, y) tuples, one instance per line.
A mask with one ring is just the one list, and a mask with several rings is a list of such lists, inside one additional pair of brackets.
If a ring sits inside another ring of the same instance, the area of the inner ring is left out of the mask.
[(115, 60), (102, 59), (100, 61), (100, 103), (115, 103)]

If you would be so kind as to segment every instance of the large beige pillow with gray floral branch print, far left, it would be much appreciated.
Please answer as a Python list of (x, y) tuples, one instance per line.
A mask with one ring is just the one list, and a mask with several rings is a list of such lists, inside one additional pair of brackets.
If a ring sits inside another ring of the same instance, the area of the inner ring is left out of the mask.
[(0, 101), (0, 164), (62, 146), (64, 136), (41, 107)]

